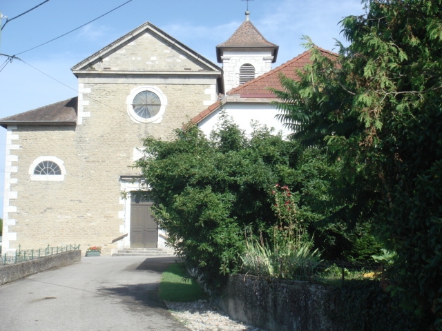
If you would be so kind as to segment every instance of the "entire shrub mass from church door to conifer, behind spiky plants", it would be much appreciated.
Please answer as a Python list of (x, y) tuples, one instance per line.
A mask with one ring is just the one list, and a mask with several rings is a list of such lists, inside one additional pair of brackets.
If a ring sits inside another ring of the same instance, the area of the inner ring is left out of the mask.
[(211, 288), (239, 270), (246, 238), (262, 237), (275, 249), (274, 239), (284, 237), (275, 235), (290, 223), (272, 208), (276, 185), (291, 189), (293, 216), (305, 229), (302, 242), (313, 238), (324, 257), (364, 259), (378, 252), (375, 245), (362, 256), (355, 245), (366, 240), (367, 229), (327, 220), (337, 209), (330, 192), (342, 163), (330, 162), (321, 148), (302, 147), (259, 126), (246, 137), (227, 118), (209, 138), (189, 124), (171, 141), (146, 138), (144, 147), (146, 157), (136, 165), (155, 218), (175, 252)]

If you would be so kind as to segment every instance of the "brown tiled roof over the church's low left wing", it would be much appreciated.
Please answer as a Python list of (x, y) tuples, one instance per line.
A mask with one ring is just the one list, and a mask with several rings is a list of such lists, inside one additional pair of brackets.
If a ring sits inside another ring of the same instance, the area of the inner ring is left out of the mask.
[(30, 126), (73, 126), (77, 123), (77, 97), (52, 103), (28, 112), (0, 119), (0, 126), (26, 124)]

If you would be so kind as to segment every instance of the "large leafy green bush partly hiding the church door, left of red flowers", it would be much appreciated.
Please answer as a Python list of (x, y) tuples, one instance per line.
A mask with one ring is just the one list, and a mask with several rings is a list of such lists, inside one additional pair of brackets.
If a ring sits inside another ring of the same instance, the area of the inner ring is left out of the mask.
[(189, 124), (172, 141), (144, 140), (137, 166), (155, 217), (209, 287), (239, 268), (246, 232), (266, 233), (275, 223), (269, 191), (291, 174), (293, 145), (258, 128), (247, 139), (227, 119), (211, 139)]

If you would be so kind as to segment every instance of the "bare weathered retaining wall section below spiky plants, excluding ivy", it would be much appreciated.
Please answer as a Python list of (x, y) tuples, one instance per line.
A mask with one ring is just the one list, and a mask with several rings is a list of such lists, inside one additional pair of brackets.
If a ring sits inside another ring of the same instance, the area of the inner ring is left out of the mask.
[(236, 274), (218, 297), (233, 319), (267, 331), (340, 330), (329, 319), (333, 288), (302, 281), (282, 281)]

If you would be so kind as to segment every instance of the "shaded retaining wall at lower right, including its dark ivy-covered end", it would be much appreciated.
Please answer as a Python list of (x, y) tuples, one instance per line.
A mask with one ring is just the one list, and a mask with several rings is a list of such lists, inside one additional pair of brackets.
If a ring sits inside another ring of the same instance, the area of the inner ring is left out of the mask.
[(267, 331), (427, 330), (378, 281), (320, 285), (236, 274), (217, 301), (233, 319)]

